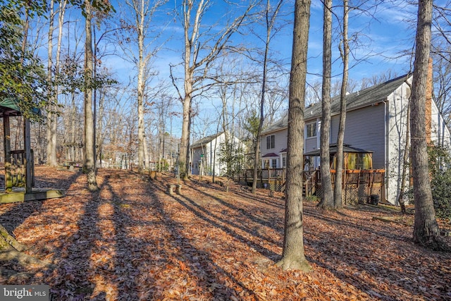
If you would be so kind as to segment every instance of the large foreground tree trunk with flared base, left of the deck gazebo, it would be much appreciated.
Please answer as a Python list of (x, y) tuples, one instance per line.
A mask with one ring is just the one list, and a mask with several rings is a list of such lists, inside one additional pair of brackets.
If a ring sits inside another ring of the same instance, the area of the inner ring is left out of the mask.
[(310, 1), (296, 0), (295, 25), (288, 105), (287, 188), (285, 190), (285, 229), (283, 254), (277, 263), (283, 269), (310, 271), (304, 255), (302, 212), (302, 170), (304, 169), (304, 106), (309, 42)]

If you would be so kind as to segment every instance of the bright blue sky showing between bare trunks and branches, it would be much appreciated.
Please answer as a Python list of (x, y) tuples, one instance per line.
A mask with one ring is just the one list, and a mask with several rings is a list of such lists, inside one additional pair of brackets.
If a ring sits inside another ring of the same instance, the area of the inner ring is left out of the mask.
[[(121, 1), (120, 1), (121, 2)], [(224, 4), (218, 4), (216, 1), (210, 8), (209, 13), (204, 18), (205, 25), (211, 25), (218, 20), (221, 22), (220, 16), (230, 10)], [(244, 3), (242, 1), (241, 3)], [(369, 1), (370, 3), (371, 1)], [(409, 6), (405, 1), (395, 1), (397, 6), (387, 4), (387, 1), (380, 4), (377, 9), (373, 9), (370, 13), (359, 13), (352, 11), (349, 21), (350, 36), (356, 36), (358, 33), (358, 47), (353, 47), (352, 57), (350, 59), (350, 80), (359, 82), (362, 78), (372, 78), (381, 73), (391, 70), (397, 75), (402, 75), (410, 70), (411, 58), (402, 56), (402, 51), (412, 49), (414, 42), (414, 30), (412, 25), (406, 20), (416, 17), (416, 6)], [(388, 1), (393, 3), (393, 1)], [(340, 1), (341, 3), (341, 1)], [(154, 60), (154, 68), (159, 72), (159, 78), (152, 82), (152, 85), (159, 85), (158, 80), (169, 79), (169, 64), (178, 64), (182, 61), (183, 55), (183, 28), (178, 20), (174, 17), (174, 8), (180, 4), (180, 1), (169, 1), (163, 8), (159, 16), (154, 18), (152, 27), (155, 30), (163, 30), (161, 39), (156, 42), (165, 41), (165, 47), (159, 51)], [(288, 12), (288, 19), (292, 19), (294, 0), (285, 1), (283, 11)], [(338, 5), (338, 1), (334, 1)], [(116, 11), (120, 11), (116, 6)], [(340, 14), (342, 8), (335, 8), (335, 13)], [(371, 15), (371, 16), (370, 16)], [(342, 72), (342, 64), (339, 58), (337, 46), (338, 17), (333, 18), (333, 26), (335, 28), (335, 39), (333, 42), (333, 80), (340, 81)], [(321, 81), (322, 68), (322, 35), (323, 35), (323, 7), (321, 1), (313, 0), (311, 2), (311, 17), (309, 30), (309, 53), (307, 68), (309, 75), (308, 82)], [(263, 30), (263, 29), (261, 29)], [(246, 34), (247, 32), (245, 32)], [(234, 42), (246, 43), (250, 46), (261, 47), (259, 41), (252, 35), (234, 35)], [(278, 59), (286, 64), (286, 68), (290, 66), (292, 45), (292, 23), (288, 24), (280, 32), (280, 35), (273, 40), (271, 48)], [(128, 76), (133, 74), (130, 63), (123, 61), (116, 56), (109, 56), (105, 61), (106, 65), (117, 76), (122, 77), (124, 81), (128, 80)], [(180, 67), (181, 68), (181, 67)], [(181, 69), (178, 71), (181, 76)], [(121, 80), (121, 78), (119, 78)], [(288, 81), (288, 77), (282, 78), (282, 81)], [(179, 86), (180, 88), (183, 85)], [(173, 90), (175, 96), (175, 90)], [(214, 111), (214, 101), (203, 104), (204, 111), (201, 112), (201, 118), (212, 118), (216, 114)], [(180, 106), (181, 110), (181, 106)], [(214, 118), (213, 118), (214, 119)], [(215, 126), (216, 128), (216, 126)]]

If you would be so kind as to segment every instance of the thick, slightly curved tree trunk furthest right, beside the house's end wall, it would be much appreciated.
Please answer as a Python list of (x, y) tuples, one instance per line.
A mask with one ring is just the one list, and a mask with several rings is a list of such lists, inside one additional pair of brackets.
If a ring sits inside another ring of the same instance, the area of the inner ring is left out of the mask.
[(432, 0), (419, 1), (410, 116), (415, 203), (413, 234), (414, 242), (419, 245), (434, 250), (445, 250), (447, 246), (440, 238), (435, 219), (426, 145), (426, 85), (431, 47), (432, 8)]

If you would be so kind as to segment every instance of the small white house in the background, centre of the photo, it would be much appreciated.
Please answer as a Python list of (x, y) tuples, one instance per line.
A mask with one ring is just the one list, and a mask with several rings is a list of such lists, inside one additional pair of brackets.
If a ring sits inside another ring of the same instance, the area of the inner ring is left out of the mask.
[[(228, 134), (228, 137), (233, 137)], [(245, 145), (237, 137), (233, 137), (237, 147), (245, 149)], [(221, 147), (226, 142), (226, 134), (218, 133), (194, 141), (191, 145), (190, 166), (193, 175), (222, 176), (226, 173), (226, 164), (221, 163)]]

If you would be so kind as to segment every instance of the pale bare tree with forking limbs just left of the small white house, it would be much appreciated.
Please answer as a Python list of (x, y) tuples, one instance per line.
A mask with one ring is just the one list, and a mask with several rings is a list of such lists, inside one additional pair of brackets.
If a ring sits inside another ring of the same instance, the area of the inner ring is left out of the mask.
[[(171, 78), (178, 90), (180, 100), (183, 104), (182, 137), (180, 140), (180, 176), (187, 178), (190, 162), (190, 125), (192, 122), (192, 99), (202, 93), (205, 88), (205, 80), (209, 74), (211, 63), (218, 58), (223, 49), (228, 45), (230, 37), (246, 20), (249, 13), (254, 8), (254, 2), (245, 7), (244, 12), (227, 22), (222, 30), (218, 30), (214, 25), (205, 26), (206, 13), (209, 11), (211, 0), (183, 0), (182, 2), (182, 25), (184, 30), (183, 49), (183, 94), (175, 83), (175, 78), (171, 66)], [(232, 4), (229, 4), (232, 5)], [(235, 8), (230, 11), (236, 12)], [(229, 11), (229, 13), (230, 13)], [(227, 20), (227, 17), (226, 17)], [(218, 30), (218, 31), (217, 31)]]

